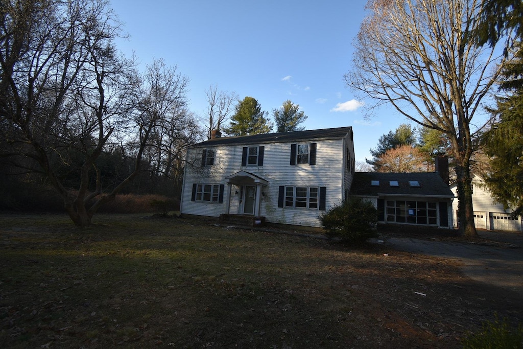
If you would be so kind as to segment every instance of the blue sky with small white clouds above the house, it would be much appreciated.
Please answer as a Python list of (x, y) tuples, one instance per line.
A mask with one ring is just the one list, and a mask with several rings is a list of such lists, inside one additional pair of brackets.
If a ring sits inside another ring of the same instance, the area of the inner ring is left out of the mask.
[[(366, 120), (345, 86), (366, 0), (111, 0), (141, 64), (163, 58), (190, 80), (190, 110), (204, 117), (210, 85), (258, 100), (263, 110), (290, 99), (306, 129), (352, 126), (356, 160), (408, 121), (391, 108)], [(413, 125), (415, 126), (415, 125)]]

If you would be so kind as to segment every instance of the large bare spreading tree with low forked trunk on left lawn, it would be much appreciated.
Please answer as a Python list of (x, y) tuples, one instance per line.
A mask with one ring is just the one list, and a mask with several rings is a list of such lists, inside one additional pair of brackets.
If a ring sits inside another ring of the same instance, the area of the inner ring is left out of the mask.
[[(140, 90), (134, 62), (114, 46), (119, 22), (104, 0), (3, 1), (0, 24), (2, 136), (34, 161), (25, 170), (48, 178), (74, 224), (88, 226), (138, 175), (162, 112), (184, 89), (175, 96), (161, 85)], [(97, 160), (118, 141), (130, 144), (134, 165), (120, 183), (103, 187)], [(63, 168), (77, 173), (77, 187), (64, 181)]]

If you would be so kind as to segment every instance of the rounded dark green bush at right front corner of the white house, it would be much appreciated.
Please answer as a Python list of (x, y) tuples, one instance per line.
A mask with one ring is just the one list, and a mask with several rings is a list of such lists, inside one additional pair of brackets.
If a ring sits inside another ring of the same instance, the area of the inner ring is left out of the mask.
[(351, 244), (362, 244), (377, 236), (378, 213), (372, 202), (367, 200), (345, 200), (322, 213), (320, 221), (327, 237)]

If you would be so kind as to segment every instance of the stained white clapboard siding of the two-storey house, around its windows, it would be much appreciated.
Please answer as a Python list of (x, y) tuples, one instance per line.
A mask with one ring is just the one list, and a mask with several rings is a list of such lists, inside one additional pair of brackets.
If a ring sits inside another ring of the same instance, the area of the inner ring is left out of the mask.
[[(279, 186), (318, 186), (326, 187), (326, 208), (332, 207), (343, 199), (345, 187), (350, 187), (352, 174), (345, 167), (345, 148), (349, 147), (351, 157), (354, 156), (354, 146), (350, 140), (345, 144), (344, 139), (311, 140), (316, 143), (316, 164), (290, 165), (289, 143), (261, 143), (249, 146), (263, 145), (263, 166), (242, 166), (242, 150), (245, 145), (220, 145), (207, 148), (215, 150), (215, 164), (201, 167), (203, 148), (190, 148), (187, 152), (189, 162), (195, 166), (188, 166), (184, 177), (181, 213), (191, 215), (218, 217), (226, 210), (227, 185), (226, 176), (240, 171), (246, 171), (262, 177), (269, 182), (263, 187), (265, 196), (261, 199), (261, 216), (266, 221), (274, 223), (295, 224), (302, 226), (319, 227), (317, 216), (319, 210), (303, 208), (278, 208)], [(211, 204), (191, 201), (193, 183), (225, 184), (223, 204)], [(238, 195), (235, 195), (235, 191)], [(230, 213), (238, 213), (240, 188), (232, 186)]]

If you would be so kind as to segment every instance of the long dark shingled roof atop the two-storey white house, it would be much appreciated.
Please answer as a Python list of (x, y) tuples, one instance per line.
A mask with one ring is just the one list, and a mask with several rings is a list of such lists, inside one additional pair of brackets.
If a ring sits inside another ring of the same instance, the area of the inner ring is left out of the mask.
[(352, 132), (352, 127), (338, 127), (321, 130), (305, 130), (294, 132), (278, 132), (253, 134), (252, 136), (237, 137), (220, 137), (210, 139), (193, 147), (213, 147), (214, 145), (232, 145), (232, 144), (259, 144), (259, 143), (280, 143), (280, 142), (299, 142), (320, 139), (340, 139)]

